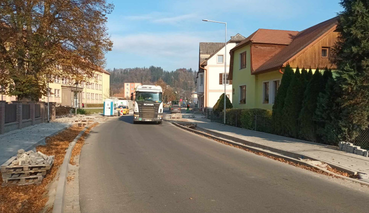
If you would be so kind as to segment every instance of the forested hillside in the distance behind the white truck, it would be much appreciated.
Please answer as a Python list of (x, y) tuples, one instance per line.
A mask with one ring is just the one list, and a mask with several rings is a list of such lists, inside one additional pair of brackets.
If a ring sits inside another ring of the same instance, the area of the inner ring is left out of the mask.
[(149, 68), (125, 68), (108, 69), (110, 75), (110, 87), (115, 88), (119, 93), (124, 82), (139, 82), (143, 84), (154, 84), (158, 80), (163, 80), (166, 84), (173, 87), (174, 91), (191, 91), (193, 82), (196, 78), (196, 71), (192, 69), (177, 69), (176, 71), (164, 71), (161, 67), (151, 66)]

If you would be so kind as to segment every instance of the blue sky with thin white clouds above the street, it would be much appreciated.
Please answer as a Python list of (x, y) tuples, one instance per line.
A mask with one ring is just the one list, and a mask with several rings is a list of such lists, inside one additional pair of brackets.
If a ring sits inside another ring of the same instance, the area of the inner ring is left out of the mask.
[[(108, 0), (109, 1), (109, 0)], [(106, 69), (160, 66), (198, 69), (199, 42), (247, 37), (258, 28), (303, 30), (333, 18), (339, 0), (113, 0)]]

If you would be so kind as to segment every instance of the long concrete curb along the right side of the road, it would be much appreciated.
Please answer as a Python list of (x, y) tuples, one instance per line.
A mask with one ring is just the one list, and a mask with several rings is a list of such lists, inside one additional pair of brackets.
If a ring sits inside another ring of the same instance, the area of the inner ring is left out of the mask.
[[(349, 181), (352, 181), (352, 182), (356, 182), (356, 183), (359, 183), (359, 184), (363, 184), (363, 185), (369, 186), (369, 183), (368, 182), (364, 182), (364, 181), (361, 181), (361, 180), (357, 180), (357, 179), (348, 178), (348, 177), (345, 177), (345, 176), (342, 176), (342, 175), (338, 175), (338, 174), (336, 174), (334, 172), (331, 172), (329, 170), (326, 170), (324, 168), (321, 168), (321, 167), (318, 167), (318, 166), (315, 166), (315, 165), (311, 165), (311, 164), (309, 164), (307, 162), (298, 160), (298, 159), (293, 158), (293, 157), (288, 157), (286, 155), (283, 155), (283, 153), (276, 153), (276, 152), (274, 152), (274, 151), (272, 151), (270, 149), (263, 149), (262, 147), (267, 147), (267, 146), (264, 146), (264, 145), (260, 146), (260, 144), (257, 144), (257, 145), (259, 145), (259, 147), (255, 147), (255, 146), (252, 146), (252, 145), (249, 145), (249, 144), (245, 144), (243, 142), (236, 142), (236, 141), (227, 140), (228, 138), (227, 139), (224, 139), (224, 138), (216, 137), (216, 136), (213, 136), (213, 135), (210, 135), (210, 134), (207, 134), (207, 133), (202, 133), (202, 132), (199, 132), (197, 130), (193, 130), (193, 129), (184, 127), (184, 126), (182, 126), (182, 125), (180, 125), (180, 124), (178, 124), (176, 122), (170, 122), (170, 123), (172, 123), (173, 125), (181, 128), (183, 130), (186, 130), (188, 132), (192, 132), (192, 133), (195, 133), (195, 134), (200, 134), (200, 135), (203, 135), (203, 136), (206, 136), (206, 137), (210, 137), (210, 138), (216, 139), (216, 140), (222, 140), (222, 141), (225, 141), (225, 142), (227, 142), (229, 144), (232, 144), (232, 145), (235, 145), (235, 146), (243, 146), (243, 147), (247, 148), (248, 150), (251, 150), (251, 151), (254, 151), (254, 152), (261, 152), (261, 153), (266, 154), (268, 156), (272, 156), (272, 157), (276, 157), (276, 158), (281, 158), (281, 159), (288, 160), (288, 161), (291, 161), (291, 162), (294, 162), (294, 163), (298, 163), (300, 165), (305, 165), (305, 166), (308, 166), (308, 167), (311, 167), (311, 168), (316, 168), (316, 169), (319, 169), (321, 171), (324, 171), (324, 172), (327, 172), (329, 174), (332, 174), (334, 176), (337, 176), (339, 178), (342, 178), (342, 179), (345, 179), (345, 180), (349, 180)], [(199, 128), (199, 127), (197, 127), (197, 128)], [(205, 130), (203, 128), (200, 128), (200, 129)], [(210, 131), (210, 132), (212, 132), (212, 131)], [(217, 133), (217, 134), (220, 134), (220, 133)], [(226, 136), (229, 136), (229, 135), (226, 135)], [(229, 136), (229, 137), (232, 137), (232, 136)], [(246, 140), (242, 140), (242, 139), (239, 139), (239, 138), (237, 138), (237, 139), (239, 141), (246, 141)], [(246, 142), (249, 142), (249, 141), (246, 141)], [(253, 143), (253, 142), (250, 142), (250, 143)], [(273, 149), (275, 149), (275, 148), (273, 148)], [(281, 151), (284, 151), (284, 150), (281, 150)], [(293, 152), (289, 152), (289, 153), (293, 153)], [(305, 159), (312, 160), (311, 158), (305, 158)], [(319, 160), (319, 161), (325, 162), (323, 160)]]

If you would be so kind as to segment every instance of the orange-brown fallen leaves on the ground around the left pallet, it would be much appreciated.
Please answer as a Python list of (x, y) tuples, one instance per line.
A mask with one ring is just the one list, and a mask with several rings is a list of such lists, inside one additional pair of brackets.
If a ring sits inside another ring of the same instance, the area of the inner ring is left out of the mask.
[[(54, 155), (54, 165), (46, 173), (40, 185), (5, 186), (0, 187), (0, 212), (3, 213), (39, 213), (43, 211), (49, 197), (47, 186), (53, 182), (59, 167), (64, 160), (65, 151), (69, 143), (83, 128), (72, 126), (67, 130), (46, 139), (46, 145), (36, 147), (37, 151), (45, 155)], [(2, 178), (0, 177), (0, 184)], [(52, 208), (46, 210), (51, 211)]]

